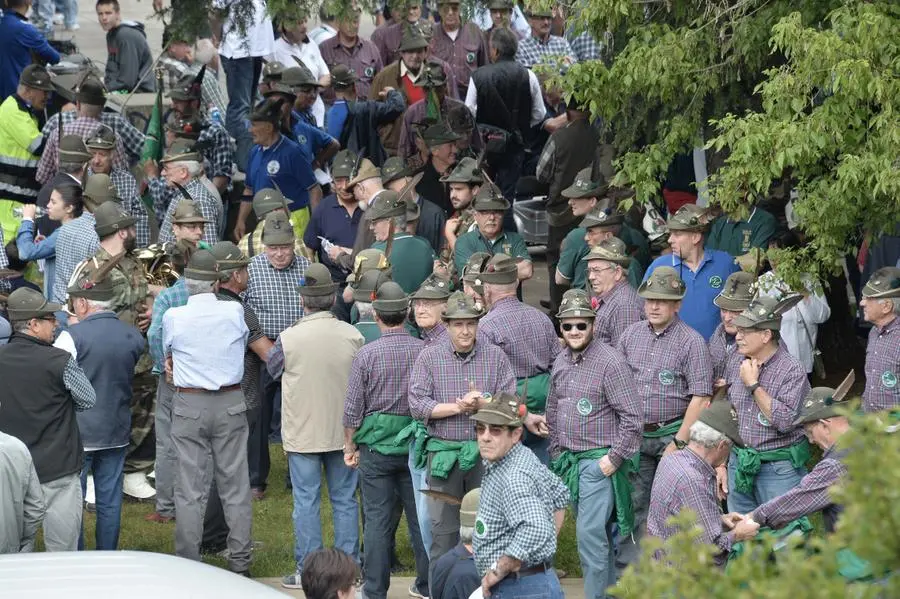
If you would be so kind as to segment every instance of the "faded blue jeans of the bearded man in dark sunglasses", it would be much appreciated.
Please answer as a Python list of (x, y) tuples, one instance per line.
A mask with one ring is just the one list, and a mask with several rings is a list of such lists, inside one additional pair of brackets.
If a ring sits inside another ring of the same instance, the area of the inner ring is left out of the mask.
[(599, 460), (578, 462), (578, 489), (575, 531), (584, 576), (584, 597), (603, 599), (607, 587), (616, 582), (616, 571), (610, 522), (612, 481), (600, 470)]

